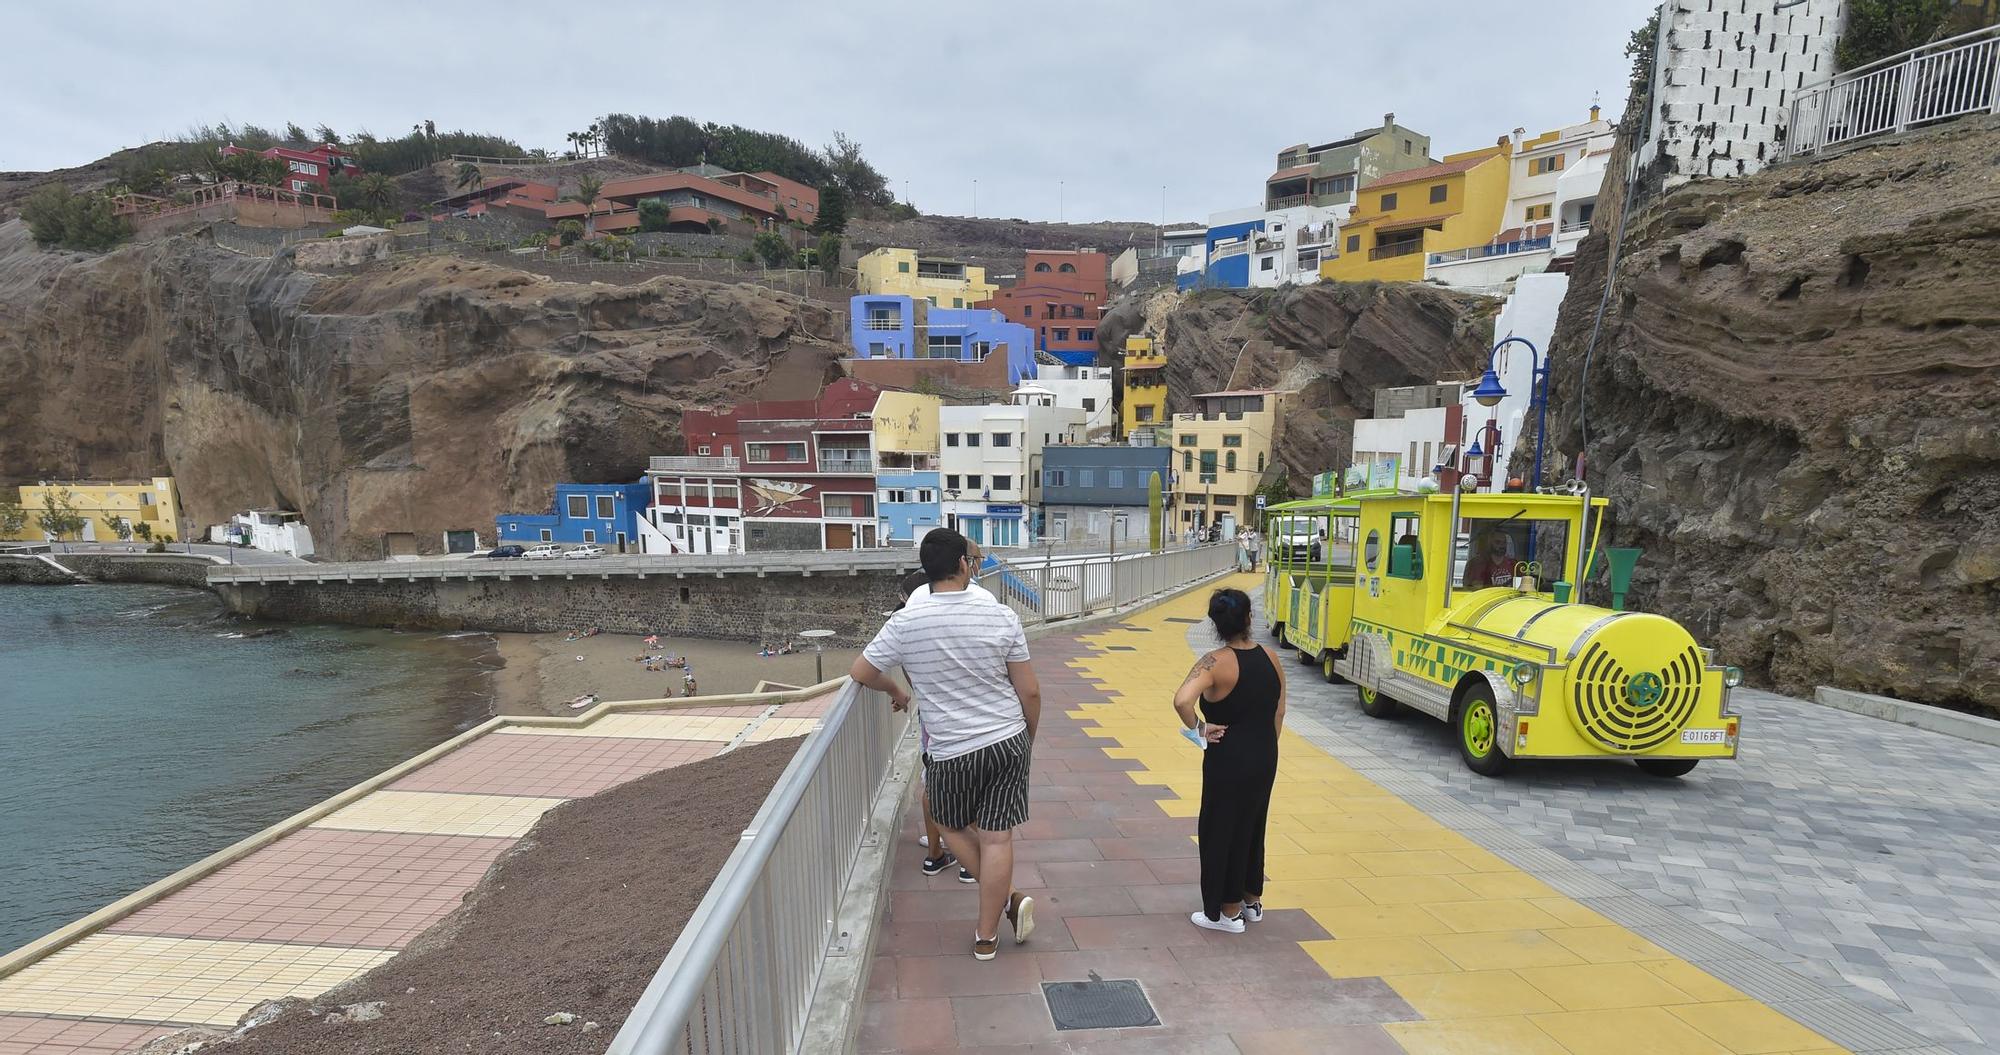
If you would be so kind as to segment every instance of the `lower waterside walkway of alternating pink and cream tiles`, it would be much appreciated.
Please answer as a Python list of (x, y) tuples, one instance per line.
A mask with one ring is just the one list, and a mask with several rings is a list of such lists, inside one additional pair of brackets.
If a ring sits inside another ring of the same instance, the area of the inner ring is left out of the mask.
[(826, 703), (504, 725), (0, 977), (0, 1055), (110, 1055), (320, 995), (456, 909), (548, 809), (808, 733)]

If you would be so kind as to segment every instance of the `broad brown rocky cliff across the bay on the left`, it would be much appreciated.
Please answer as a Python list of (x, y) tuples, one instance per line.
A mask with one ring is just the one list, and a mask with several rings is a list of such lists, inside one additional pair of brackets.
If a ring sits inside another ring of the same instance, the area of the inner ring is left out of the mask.
[(104, 256), (0, 224), (0, 484), (178, 478), (188, 516), (306, 514), (370, 557), (388, 533), (492, 535), (562, 480), (636, 480), (680, 412), (810, 398), (842, 334), (818, 304), (656, 278), (566, 284), (456, 258), (310, 274), (200, 236)]

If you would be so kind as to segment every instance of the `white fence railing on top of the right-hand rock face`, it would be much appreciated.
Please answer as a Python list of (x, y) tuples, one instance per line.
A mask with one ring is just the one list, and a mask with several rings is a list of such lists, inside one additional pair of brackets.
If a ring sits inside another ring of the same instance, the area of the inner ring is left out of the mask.
[(1792, 96), (1784, 156), (2000, 110), (2000, 26), (1860, 66)]

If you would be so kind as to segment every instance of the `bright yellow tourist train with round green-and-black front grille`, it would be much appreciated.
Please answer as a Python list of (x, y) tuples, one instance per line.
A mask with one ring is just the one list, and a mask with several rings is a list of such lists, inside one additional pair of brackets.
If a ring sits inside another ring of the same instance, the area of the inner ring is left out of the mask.
[[(1624, 611), (1638, 549), (1598, 553), (1602, 498), (1396, 494), (1266, 510), (1272, 635), (1362, 711), (1452, 725), (1466, 765), (1632, 759), (1678, 777), (1736, 757), (1736, 667), (1674, 619)], [(1588, 539), (1586, 539), (1588, 528)], [(1608, 567), (1610, 607), (1582, 603)]]

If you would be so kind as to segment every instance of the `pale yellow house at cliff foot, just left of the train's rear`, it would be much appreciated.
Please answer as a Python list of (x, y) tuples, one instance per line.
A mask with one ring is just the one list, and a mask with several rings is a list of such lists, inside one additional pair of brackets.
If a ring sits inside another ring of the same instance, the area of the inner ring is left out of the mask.
[(1204, 392), (1194, 406), (1194, 414), (1172, 420), (1174, 508), (1180, 510), (1174, 528), (1208, 528), (1222, 518), (1250, 526), (1256, 490), (1276, 464), (1284, 392)]

